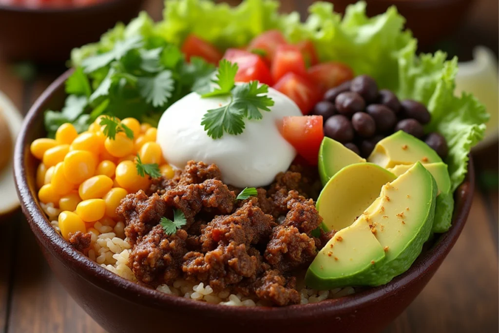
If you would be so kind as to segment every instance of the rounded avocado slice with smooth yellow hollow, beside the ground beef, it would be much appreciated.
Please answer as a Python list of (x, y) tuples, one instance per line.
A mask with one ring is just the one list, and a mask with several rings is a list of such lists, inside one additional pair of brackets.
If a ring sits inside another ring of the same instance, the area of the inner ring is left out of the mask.
[(337, 172), (320, 192), (315, 205), (322, 216), (322, 229), (350, 226), (379, 196), (381, 187), (396, 177), (372, 163), (348, 165)]

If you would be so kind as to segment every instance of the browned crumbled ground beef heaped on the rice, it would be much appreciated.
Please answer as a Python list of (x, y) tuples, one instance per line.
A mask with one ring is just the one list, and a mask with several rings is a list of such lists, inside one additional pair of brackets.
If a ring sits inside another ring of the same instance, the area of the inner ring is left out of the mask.
[[(118, 207), (132, 245), (128, 266), (153, 288), (182, 277), (277, 306), (298, 304), (293, 271), (306, 268), (332, 237), (312, 236), (322, 222), (313, 202), (317, 182), (313, 171), (292, 166), (255, 197), (236, 201), (241, 189), (224, 184), (216, 165), (190, 161)], [(173, 218), (173, 209), (187, 223), (166, 235), (159, 223)]]

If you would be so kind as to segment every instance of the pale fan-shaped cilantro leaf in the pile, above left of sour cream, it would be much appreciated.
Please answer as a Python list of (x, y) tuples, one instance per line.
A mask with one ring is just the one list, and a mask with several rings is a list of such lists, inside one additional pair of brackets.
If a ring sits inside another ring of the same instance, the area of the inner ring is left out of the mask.
[(163, 70), (154, 77), (139, 77), (137, 84), (146, 102), (154, 107), (163, 106), (172, 97), (175, 81), (170, 70)]

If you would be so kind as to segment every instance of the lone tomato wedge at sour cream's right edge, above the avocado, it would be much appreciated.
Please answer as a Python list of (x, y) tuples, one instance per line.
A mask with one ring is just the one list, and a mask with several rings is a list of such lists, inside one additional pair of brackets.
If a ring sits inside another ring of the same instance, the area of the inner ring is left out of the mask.
[(317, 165), (324, 138), (322, 116), (288, 116), (282, 119), (281, 134), (309, 164)]

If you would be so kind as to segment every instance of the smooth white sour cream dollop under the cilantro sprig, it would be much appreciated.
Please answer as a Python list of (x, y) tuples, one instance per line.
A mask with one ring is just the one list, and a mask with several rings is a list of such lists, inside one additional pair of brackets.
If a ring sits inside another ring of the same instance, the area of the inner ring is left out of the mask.
[(267, 95), (274, 105), (269, 112), (261, 111), (262, 119), (245, 119), (242, 134), (224, 132), (222, 138), (212, 139), (201, 125), (201, 119), (207, 110), (226, 105), (229, 98), (188, 94), (172, 104), (159, 121), (157, 142), (163, 156), (178, 168), (190, 160), (215, 163), (223, 181), (236, 187), (270, 184), (277, 173), (289, 168), (296, 156), (294, 148), (279, 133), (278, 123), (284, 116), (300, 116), (301, 112), (279, 91), (268, 88)]

